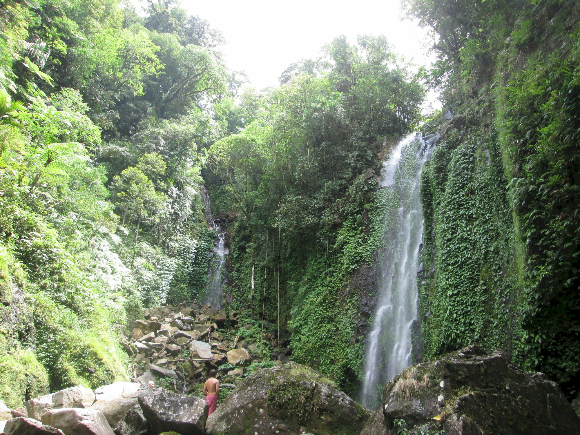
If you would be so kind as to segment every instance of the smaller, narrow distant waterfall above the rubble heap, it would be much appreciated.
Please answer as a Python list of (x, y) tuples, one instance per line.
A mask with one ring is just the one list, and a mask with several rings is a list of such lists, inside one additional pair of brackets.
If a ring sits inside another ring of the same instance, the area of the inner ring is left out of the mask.
[(215, 230), (216, 240), (213, 243), (213, 255), (209, 262), (208, 284), (205, 288), (205, 295), (202, 303), (211, 304), (212, 307), (220, 309), (222, 307), (222, 286), (226, 277), (226, 256), (230, 253), (226, 248), (226, 231), (224, 231), (221, 219), (212, 219), (211, 201), (208, 191), (202, 189), (205, 204), (205, 219), (208, 226)]

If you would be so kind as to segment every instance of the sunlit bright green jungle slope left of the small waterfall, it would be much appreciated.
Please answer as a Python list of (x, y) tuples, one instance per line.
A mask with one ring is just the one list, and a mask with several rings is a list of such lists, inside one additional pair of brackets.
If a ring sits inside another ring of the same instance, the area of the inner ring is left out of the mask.
[(0, 398), (17, 408), (125, 380), (142, 306), (205, 291), (201, 154), (243, 122), (243, 77), (171, 1), (3, 0), (0, 18)]

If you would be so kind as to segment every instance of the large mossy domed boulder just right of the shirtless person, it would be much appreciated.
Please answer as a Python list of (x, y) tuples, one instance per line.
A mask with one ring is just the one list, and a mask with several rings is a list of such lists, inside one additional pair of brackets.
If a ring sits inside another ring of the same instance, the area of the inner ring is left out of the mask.
[(209, 416), (206, 434), (358, 434), (370, 415), (332, 382), (289, 362), (238, 383)]

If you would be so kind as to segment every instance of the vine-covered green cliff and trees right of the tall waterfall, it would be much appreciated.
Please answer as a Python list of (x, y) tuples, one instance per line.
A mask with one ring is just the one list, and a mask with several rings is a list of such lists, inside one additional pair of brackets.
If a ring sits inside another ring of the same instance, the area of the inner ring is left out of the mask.
[(449, 112), (422, 181), (427, 356), (503, 347), (580, 392), (578, 2), (409, 0)]

